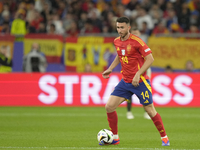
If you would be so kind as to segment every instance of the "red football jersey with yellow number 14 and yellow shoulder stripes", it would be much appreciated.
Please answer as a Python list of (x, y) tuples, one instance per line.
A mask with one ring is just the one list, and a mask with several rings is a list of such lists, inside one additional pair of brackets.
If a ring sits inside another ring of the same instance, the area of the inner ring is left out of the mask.
[[(136, 72), (144, 64), (144, 57), (152, 53), (152, 51), (142, 39), (133, 34), (130, 34), (126, 41), (121, 41), (120, 37), (116, 38), (114, 45), (122, 66), (122, 78), (125, 82), (131, 83)], [(145, 79), (149, 79), (146, 72), (142, 76)], [(142, 82), (141, 78), (140, 82)]]

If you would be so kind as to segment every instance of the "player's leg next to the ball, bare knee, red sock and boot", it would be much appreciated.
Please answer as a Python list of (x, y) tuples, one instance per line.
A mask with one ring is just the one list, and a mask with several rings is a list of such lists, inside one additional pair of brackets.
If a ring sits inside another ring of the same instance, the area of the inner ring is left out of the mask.
[(123, 97), (118, 97), (111, 95), (108, 102), (106, 103), (105, 109), (107, 112), (108, 124), (113, 132), (113, 143), (114, 145), (119, 144), (119, 136), (118, 136), (118, 117), (116, 108), (125, 100)]

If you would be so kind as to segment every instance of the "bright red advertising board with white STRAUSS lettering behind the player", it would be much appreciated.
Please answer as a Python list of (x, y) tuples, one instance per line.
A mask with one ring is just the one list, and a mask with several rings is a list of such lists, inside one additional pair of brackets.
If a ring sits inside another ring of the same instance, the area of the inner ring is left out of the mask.
[[(0, 74), (0, 106), (104, 106), (120, 80), (118, 73)], [(199, 74), (153, 73), (151, 85), (155, 106), (200, 107)]]

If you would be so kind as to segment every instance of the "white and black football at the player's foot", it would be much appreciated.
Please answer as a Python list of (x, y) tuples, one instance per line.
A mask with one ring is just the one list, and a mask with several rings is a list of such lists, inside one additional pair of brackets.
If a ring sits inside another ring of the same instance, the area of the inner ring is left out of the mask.
[(101, 145), (110, 144), (113, 141), (113, 133), (108, 129), (102, 129), (97, 134), (97, 140)]

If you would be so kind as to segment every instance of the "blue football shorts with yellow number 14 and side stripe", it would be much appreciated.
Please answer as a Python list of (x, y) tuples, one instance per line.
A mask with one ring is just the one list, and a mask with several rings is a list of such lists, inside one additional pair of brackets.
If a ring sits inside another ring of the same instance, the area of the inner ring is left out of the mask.
[(126, 83), (123, 79), (115, 87), (111, 95), (124, 97), (130, 99), (133, 94), (135, 94), (139, 100), (140, 104), (148, 105), (153, 103), (151, 84), (149, 80), (143, 80), (139, 83), (139, 86), (134, 87), (132, 83)]

